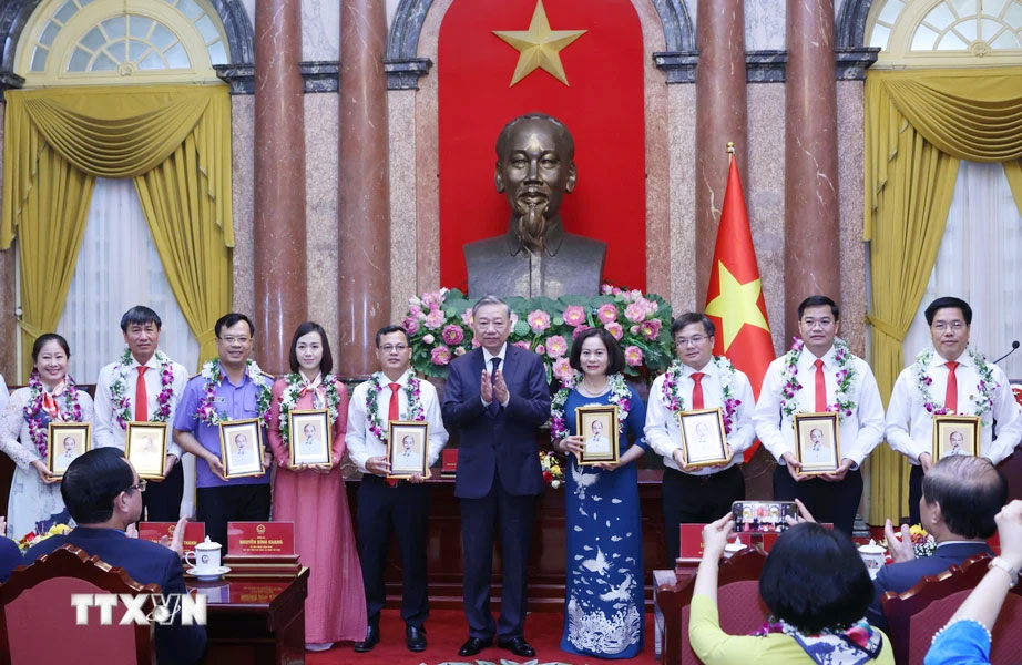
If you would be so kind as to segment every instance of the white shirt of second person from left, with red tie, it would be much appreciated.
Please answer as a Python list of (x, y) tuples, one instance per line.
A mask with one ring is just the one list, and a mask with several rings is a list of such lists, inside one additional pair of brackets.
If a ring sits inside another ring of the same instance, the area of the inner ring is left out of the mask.
[[(133, 419), (135, 418), (135, 383), (139, 379), (137, 368), (141, 364), (135, 360), (135, 357), (132, 356), (130, 365), (126, 370), (124, 370), (124, 396), (131, 403)], [(117, 416), (114, 413), (113, 403), (110, 401), (111, 388), (117, 380), (119, 372), (114, 371), (116, 366), (117, 362), (111, 362), (103, 367), (103, 369), (100, 370), (99, 378), (95, 380), (95, 426), (92, 431), (94, 448), (112, 447), (124, 450), (125, 429), (117, 422)], [(161, 377), (160, 361), (156, 360), (156, 354), (153, 354), (145, 366), (149, 368), (145, 370), (145, 374), (142, 375), (145, 381), (145, 412), (149, 419), (152, 420), (156, 411), (160, 410), (160, 402), (157, 399), (160, 392), (163, 390), (163, 379)], [(184, 387), (188, 382), (188, 372), (185, 370), (184, 366), (178, 362), (171, 361), (171, 366), (174, 372), (174, 381), (171, 383), (171, 389), (174, 395), (171, 397), (171, 413), (166, 419), (168, 424), (167, 438), (170, 439), (167, 441), (166, 453), (173, 454), (180, 460), (183, 451), (181, 446), (174, 442), (173, 434), (171, 434), (170, 431), (174, 427), (174, 413), (177, 411), (177, 402), (181, 400)]]

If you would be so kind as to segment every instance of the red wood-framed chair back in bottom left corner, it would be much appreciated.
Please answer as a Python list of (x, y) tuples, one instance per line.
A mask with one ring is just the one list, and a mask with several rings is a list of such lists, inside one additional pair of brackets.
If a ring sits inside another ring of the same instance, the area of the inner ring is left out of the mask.
[[(101, 612), (88, 610), (79, 625), (71, 594), (154, 594), (156, 584), (139, 584), (124, 570), (111, 567), (65, 544), (30, 565), (14, 569), (0, 585), (0, 663), (33, 665), (152, 665), (155, 663), (153, 626), (130, 622), (119, 625), (123, 604), (101, 625)], [(146, 601), (144, 612), (152, 612)]]

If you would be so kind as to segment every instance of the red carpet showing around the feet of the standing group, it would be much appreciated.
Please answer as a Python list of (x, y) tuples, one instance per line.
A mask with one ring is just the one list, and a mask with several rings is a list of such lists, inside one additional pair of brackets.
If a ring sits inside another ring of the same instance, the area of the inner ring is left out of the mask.
[[(559, 612), (533, 612), (525, 618), (525, 638), (535, 648), (535, 659), (540, 664), (568, 663), (570, 665), (585, 665), (596, 663), (613, 663), (590, 656), (580, 656), (562, 652), (561, 631), (564, 617)], [(426, 623), (426, 635), (429, 637), (429, 648), (413, 654), (405, 646), (405, 624), (398, 610), (384, 610), (380, 622), (382, 640), (376, 648), (368, 654), (357, 654), (351, 651), (350, 644), (335, 646), (328, 652), (307, 653), (308, 665), (377, 665), (379, 663), (394, 663), (395, 665), (439, 665), (440, 663), (523, 663), (529, 658), (519, 658), (509, 651), (498, 648), (495, 645), (483, 649), (482, 653), (462, 658), (458, 649), (468, 638), (468, 626), (464, 615), (458, 610), (433, 610)], [(653, 651), (653, 615), (646, 614), (645, 646), (642, 653), (625, 663), (635, 665), (653, 665), (656, 657)]]

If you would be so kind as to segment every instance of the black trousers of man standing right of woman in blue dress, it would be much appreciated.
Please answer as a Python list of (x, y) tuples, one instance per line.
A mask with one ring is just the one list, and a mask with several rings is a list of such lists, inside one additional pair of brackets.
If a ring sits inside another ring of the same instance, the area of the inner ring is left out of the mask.
[(745, 477), (737, 466), (709, 475), (692, 475), (664, 467), (661, 492), (667, 561), (673, 564), (681, 548), (681, 525), (713, 522), (729, 513), (732, 503), (745, 499)]

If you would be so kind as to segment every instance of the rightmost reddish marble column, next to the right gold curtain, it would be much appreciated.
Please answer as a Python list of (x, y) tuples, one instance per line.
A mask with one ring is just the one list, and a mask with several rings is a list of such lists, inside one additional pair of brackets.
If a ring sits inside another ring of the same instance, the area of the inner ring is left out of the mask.
[(787, 0), (785, 339), (798, 304), (841, 294), (834, 0)]

